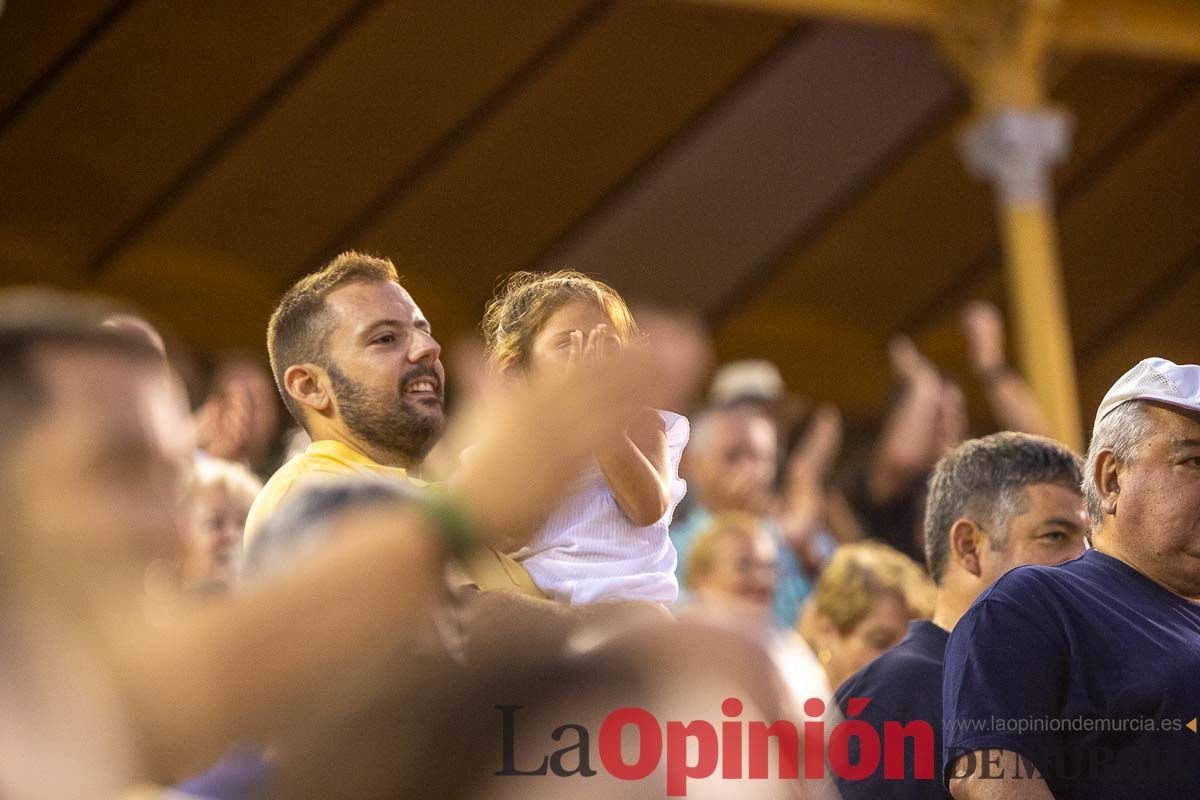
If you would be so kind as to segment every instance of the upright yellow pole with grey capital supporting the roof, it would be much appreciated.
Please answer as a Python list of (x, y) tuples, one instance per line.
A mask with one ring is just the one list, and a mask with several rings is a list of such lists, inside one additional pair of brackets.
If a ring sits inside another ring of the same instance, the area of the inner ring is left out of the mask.
[(962, 137), (962, 155), (996, 190), (1019, 363), (1052, 434), (1081, 450), (1052, 180), (1069, 151), (1070, 121), (1044, 97), (1058, 6), (1054, 0), (992, 0), (959, 7), (971, 13), (950, 17), (942, 44), (971, 85), (978, 109)]

